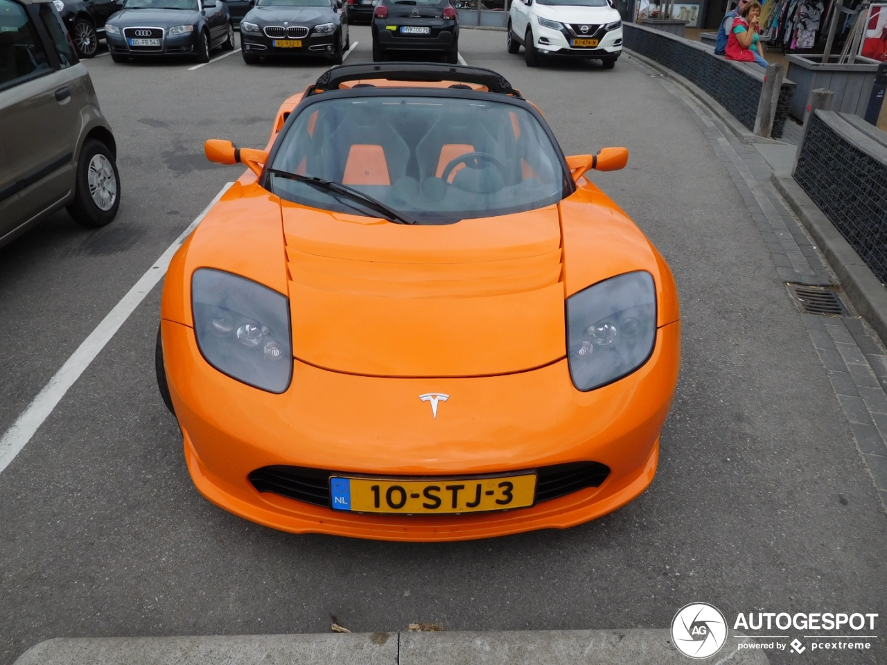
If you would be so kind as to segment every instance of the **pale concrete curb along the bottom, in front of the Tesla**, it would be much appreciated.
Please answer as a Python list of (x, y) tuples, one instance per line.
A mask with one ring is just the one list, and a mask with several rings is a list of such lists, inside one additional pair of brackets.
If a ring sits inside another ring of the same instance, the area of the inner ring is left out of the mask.
[[(767, 665), (732, 634), (696, 662)], [(56, 638), (15, 665), (687, 665), (668, 630), (515, 630), (176, 638)]]

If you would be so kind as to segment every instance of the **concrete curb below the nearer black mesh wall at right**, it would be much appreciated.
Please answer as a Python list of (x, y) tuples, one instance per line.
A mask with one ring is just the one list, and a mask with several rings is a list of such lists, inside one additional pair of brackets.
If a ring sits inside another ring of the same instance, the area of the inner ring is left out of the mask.
[(774, 173), (770, 179), (819, 244), (853, 306), (887, 344), (887, 288), (793, 177)]

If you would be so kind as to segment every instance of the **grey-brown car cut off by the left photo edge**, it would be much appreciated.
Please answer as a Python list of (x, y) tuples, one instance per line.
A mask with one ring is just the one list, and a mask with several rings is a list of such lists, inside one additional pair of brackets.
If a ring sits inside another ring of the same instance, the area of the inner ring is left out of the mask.
[(62, 207), (114, 219), (114, 135), (51, 2), (0, 0), (0, 127), (0, 246)]

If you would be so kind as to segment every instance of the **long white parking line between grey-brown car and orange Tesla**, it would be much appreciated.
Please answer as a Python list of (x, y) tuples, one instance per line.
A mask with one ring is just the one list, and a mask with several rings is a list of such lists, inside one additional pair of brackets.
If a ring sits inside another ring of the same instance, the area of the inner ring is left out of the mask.
[(43, 386), (43, 390), (37, 394), (31, 403), (27, 405), (27, 409), (6, 430), (3, 438), (0, 439), (0, 473), (27, 445), (27, 442), (31, 440), (37, 429), (43, 425), (43, 421), (49, 417), (56, 405), (61, 401), (61, 398), (65, 396), (68, 388), (75, 384), (75, 381), (80, 378), (83, 371), (90, 366), (90, 363), (95, 360), (98, 353), (114, 337), (114, 333), (120, 329), (123, 322), (130, 317), (130, 314), (137, 308), (138, 304), (145, 300), (145, 296), (151, 292), (151, 289), (166, 274), (172, 255), (176, 254), (176, 250), (188, 237), (188, 234), (194, 230), (194, 227), (209, 212), (209, 208), (216, 205), (216, 201), (222, 198), (224, 192), (227, 192), (232, 184), (226, 184), (222, 191), (216, 194), (216, 198), (211, 200), (207, 207), (203, 208), (203, 212), (197, 215), (192, 223), (188, 224), (188, 228), (182, 231), (182, 234), (176, 241), (161, 254), (153, 266), (130, 289), (130, 292), (114, 305), (114, 309), (108, 312), (107, 316), (102, 319), (102, 322), (96, 326), (95, 330), (90, 332), (90, 335), (82, 341), (82, 344), (74, 354), (61, 366), (59, 372), (56, 372), (49, 383)]

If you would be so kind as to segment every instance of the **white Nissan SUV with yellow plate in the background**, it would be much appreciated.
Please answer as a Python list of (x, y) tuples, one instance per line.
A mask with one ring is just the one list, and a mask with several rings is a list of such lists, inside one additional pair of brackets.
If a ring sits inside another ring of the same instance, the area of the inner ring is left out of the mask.
[(608, 0), (512, 0), (508, 52), (523, 45), (527, 66), (547, 55), (599, 59), (612, 69), (622, 53), (622, 20)]

